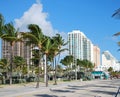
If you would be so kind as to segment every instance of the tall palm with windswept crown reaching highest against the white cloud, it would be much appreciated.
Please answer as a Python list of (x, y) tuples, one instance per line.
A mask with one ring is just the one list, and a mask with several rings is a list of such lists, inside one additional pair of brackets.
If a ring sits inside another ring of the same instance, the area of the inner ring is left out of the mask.
[[(45, 38), (44, 38), (44, 35), (42, 33), (42, 30), (40, 29), (40, 27), (38, 25), (29, 24), (28, 29), (30, 30), (30, 32), (23, 33), (22, 35), (23, 35), (23, 38), (28, 39), (27, 45), (33, 45), (33, 47), (38, 48), (39, 54), (40, 54), (38, 68), (40, 68), (41, 57), (42, 57), (41, 49), (42, 49), (42, 44), (45, 42)], [(40, 79), (40, 70), (38, 73), (38, 81), (37, 81), (36, 88), (39, 88), (39, 79)]]

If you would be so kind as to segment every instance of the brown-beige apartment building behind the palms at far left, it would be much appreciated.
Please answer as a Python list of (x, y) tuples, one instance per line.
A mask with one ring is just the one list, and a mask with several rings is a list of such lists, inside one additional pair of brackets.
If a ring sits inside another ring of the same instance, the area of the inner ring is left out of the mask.
[[(21, 33), (20, 32), (18, 37), (20, 37)], [(24, 59), (26, 59), (27, 64), (31, 64), (30, 59), (32, 58), (32, 48), (31, 46), (26, 46), (26, 40), (23, 42), (17, 42), (15, 43), (14, 46), (14, 55), (13, 56), (21, 56)], [(6, 58), (10, 60), (10, 52), (11, 52), (11, 46), (10, 43), (7, 41), (2, 40), (2, 58)]]

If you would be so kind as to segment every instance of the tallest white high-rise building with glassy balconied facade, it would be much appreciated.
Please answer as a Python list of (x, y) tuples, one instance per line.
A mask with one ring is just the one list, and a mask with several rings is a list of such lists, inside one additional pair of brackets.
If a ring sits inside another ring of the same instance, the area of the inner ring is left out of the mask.
[(87, 59), (93, 62), (93, 44), (79, 30), (73, 30), (68, 33), (69, 54), (73, 55), (75, 59)]

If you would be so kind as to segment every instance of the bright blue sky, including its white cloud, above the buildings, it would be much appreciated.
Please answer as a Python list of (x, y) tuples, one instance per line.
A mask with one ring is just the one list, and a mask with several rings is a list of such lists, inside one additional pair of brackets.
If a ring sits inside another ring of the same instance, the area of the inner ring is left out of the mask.
[[(27, 24), (38, 24), (47, 35), (59, 32), (67, 39), (72, 30), (82, 31), (101, 53), (109, 50), (120, 60), (117, 45), (120, 20), (112, 14), (120, 7), (120, 0), (1, 0), (0, 13), (5, 23), (13, 22), (20, 31)], [(0, 54), (1, 55), (1, 54)]]

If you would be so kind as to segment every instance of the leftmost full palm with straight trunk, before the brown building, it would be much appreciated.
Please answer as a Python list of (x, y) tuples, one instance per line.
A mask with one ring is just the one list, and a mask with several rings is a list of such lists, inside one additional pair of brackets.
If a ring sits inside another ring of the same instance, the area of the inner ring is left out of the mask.
[(18, 31), (14, 28), (12, 23), (5, 24), (4, 33), (1, 37), (4, 41), (10, 43), (10, 85), (12, 84), (12, 69), (13, 69), (13, 54), (14, 54), (14, 45), (16, 42), (20, 41), (21, 38), (18, 38)]

